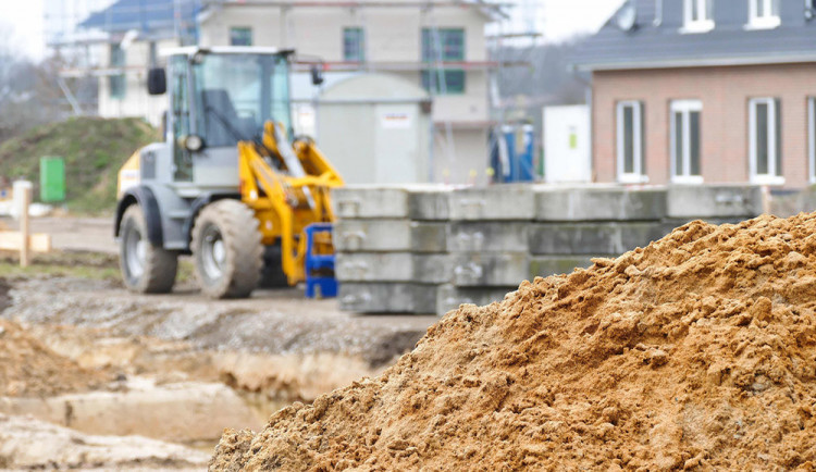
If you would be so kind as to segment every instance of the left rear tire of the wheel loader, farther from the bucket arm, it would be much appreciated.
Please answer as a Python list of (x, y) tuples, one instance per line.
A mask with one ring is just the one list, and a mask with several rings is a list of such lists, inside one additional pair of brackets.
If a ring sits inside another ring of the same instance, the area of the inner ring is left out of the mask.
[(120, 235), (119, 266), (125, 287), (140, 294), (171, 291), (178, 270), (178, 254), (150, 244), (141, 207), (127, 208)]

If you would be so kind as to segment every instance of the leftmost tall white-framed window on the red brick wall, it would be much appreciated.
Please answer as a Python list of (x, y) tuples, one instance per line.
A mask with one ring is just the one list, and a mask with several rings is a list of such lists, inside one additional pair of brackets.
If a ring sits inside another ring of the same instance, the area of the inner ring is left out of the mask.
[(643, 164), (643, 103), (621, 101), (617, 107), (618, 181), (647, 181)]

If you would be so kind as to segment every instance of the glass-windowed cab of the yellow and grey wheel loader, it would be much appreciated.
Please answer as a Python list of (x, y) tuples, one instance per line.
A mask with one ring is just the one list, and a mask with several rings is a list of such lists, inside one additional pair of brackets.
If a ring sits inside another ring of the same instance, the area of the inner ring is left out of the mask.
[(270, 120), (290, 129), (290, 54), (246, 47), (165, 52), (168, 69), (150, 72), (148, 91), (169, 95), (170, 178), (180, 189), (237, 188), (237, 142), (260, 138)]

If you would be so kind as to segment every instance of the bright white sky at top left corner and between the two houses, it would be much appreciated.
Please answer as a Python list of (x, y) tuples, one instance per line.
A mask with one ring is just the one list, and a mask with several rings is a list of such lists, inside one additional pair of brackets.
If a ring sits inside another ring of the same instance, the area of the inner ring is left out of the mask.
[[(504, 33), (543, 32), (545, 41), (561, 41), (582, 33), (593, 33), (623, 0), (512, 0), (510, 21)], [(0, 40), (11, 30), (12, 45), (21, 53), (41, 59), (44, 0), (0, 0)]]

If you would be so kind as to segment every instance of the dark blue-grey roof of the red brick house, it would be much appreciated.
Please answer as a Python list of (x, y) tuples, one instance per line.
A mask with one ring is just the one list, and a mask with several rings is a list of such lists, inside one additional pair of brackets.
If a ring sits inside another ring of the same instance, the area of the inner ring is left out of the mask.
[(633, 0), (635, 29), (620, 30), (613, 15), (579, 48), (573, 65), (616, 70), (816, 61), (816, 20), (805, 20), (801, 0), (780, 0), (781, 25), (772, 29), (746, 27), (747, 0), (709, 1), (714, 29), (684, 33), (683, 0)]

